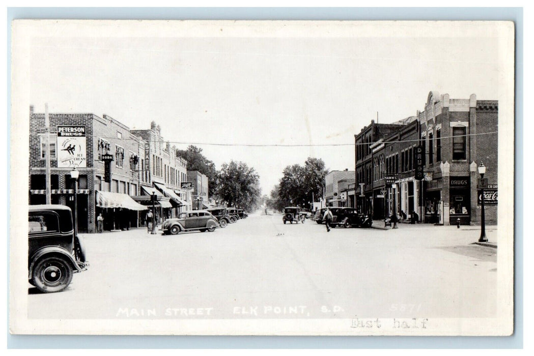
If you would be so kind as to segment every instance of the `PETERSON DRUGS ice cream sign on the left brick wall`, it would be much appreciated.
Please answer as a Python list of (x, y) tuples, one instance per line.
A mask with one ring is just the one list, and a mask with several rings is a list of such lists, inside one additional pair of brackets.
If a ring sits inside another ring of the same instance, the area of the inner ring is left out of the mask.
[(58, 168), (86, 168), (85, 126), (58, 126)]

